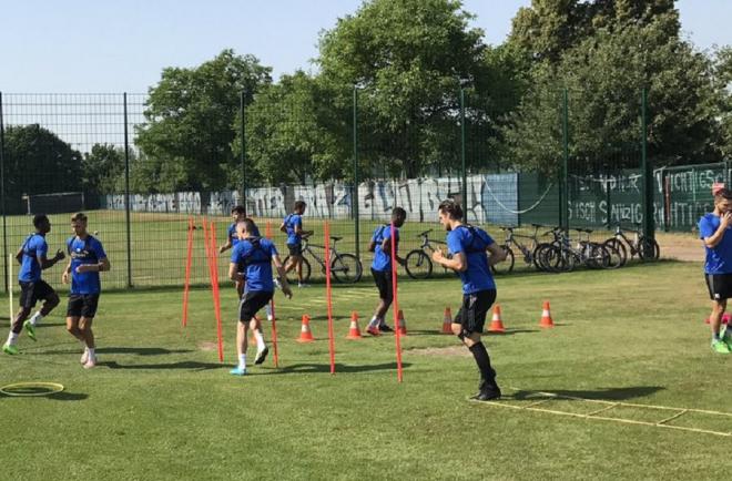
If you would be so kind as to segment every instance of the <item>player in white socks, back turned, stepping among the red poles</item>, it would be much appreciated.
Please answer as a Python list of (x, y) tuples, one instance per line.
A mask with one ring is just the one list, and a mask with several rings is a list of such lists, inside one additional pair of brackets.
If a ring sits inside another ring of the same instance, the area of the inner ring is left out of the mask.
[(272, 279), (272, 263), (279, 274), (282, 291), (288, 298), (293, 293), (285, 277), (285, 269), (279, 260), (279, 255), (272, 240), (260, 237), (256, 224), (251, 218), (245, 218), (236, 224), (236, 234), (240, 242), (232, 252), (232, 260), (228, 265), (228, 277), (236, 282), (245, 278), (246, 287), (244, 298), (240, 301), (238, 323), (236, 326), (236, 354), (238, 365), (230, 371), (234, 376), (246, 375), (246, 332), (252, 329), (256, 339), (257, 352), (254, 358), (255, 365), (261, 365), (270, 349), (264, 344), (264, 337), (254, 316), (264, 306), (270, 304), (274, 296), (274, 282)]

